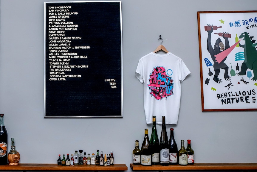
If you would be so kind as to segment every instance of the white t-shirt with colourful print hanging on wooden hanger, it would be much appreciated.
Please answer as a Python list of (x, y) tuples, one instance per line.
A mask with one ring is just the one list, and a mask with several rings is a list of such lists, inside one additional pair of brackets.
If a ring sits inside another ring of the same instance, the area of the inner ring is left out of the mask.
[(181, 97), (180, 82), (190, 74), (185, 63), (171, 52), (151, 52), (142, 57), (137, 65), (136, 77), (144, 83), (144, 109), (146, 124), (177, 124)]

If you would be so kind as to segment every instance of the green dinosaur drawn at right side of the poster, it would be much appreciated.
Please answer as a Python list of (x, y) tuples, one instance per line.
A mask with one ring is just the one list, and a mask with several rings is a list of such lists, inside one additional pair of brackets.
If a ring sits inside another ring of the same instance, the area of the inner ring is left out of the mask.
[(249, 35), (244, 32), (239, 38), (243, 38), (244, 45), (239, 43), (239, 46), (244, 48), (244, 62), (241, 66), (241, 71), (238, 73), (239, 75), (245, 75), (247, 69), (253, 70), (253, 78), (252, 80), (257, 79), (257, 51), (255, 48), (255, 44), (251, 41)]

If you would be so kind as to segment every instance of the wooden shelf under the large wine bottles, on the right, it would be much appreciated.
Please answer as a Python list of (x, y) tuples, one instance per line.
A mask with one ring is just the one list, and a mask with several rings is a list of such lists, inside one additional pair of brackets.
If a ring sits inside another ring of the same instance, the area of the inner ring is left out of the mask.
[(163, 171), (163, 170), (257, 170), (257, 163), (194, 163), (193, 165), (134, 165), (130, 164), (133, 171)]

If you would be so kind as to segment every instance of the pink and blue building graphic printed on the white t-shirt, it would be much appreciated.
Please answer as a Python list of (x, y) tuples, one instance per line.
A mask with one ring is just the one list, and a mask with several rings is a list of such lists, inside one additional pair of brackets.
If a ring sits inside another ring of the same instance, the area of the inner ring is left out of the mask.
[[(169, 69), (171, 70), (171, 69)], [(150, 94), (156, 100), (162, 100), (165, 97), (173, 95), (173, 80), (166, 74), (164, 67), (155, 67), (150, 74), (148, 87), (151, 90)]]

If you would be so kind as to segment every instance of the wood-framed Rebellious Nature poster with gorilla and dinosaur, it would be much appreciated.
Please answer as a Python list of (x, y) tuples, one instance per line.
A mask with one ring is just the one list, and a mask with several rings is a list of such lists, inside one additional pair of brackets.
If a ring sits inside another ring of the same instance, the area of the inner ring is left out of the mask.
[(197, 17), (202, 111), (257, 110), (257, 11)]

